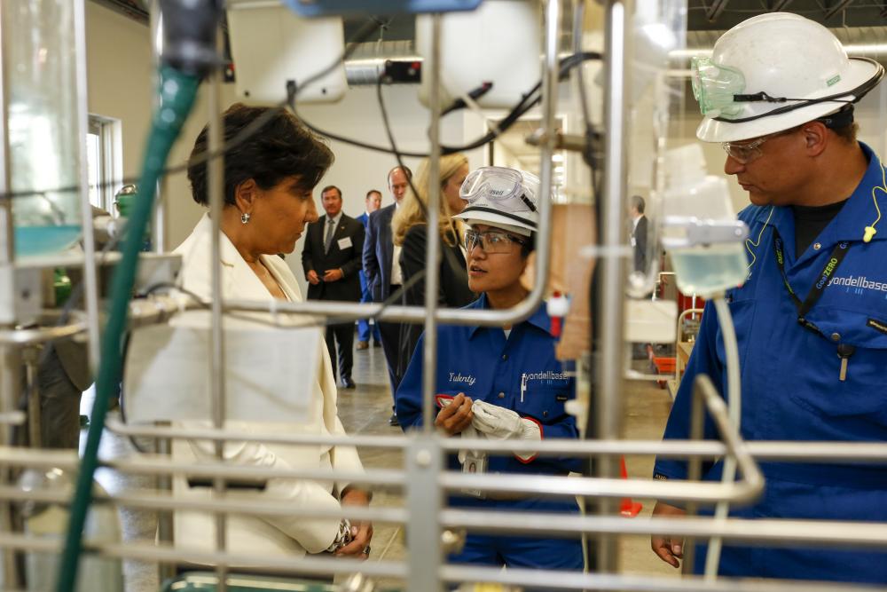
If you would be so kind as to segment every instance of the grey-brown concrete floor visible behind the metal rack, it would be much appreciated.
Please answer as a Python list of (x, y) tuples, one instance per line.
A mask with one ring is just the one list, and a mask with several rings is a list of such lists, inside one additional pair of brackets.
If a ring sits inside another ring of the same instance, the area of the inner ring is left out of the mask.
[[(389, 426), (391, 395), (385, 369), (385, 359), (381, 348), (370, 348), (355, 352), (353, 377), (357, 389), (339, 391), (339, 413), (346, 430), (351, 434), (390, 435), (399, 433), (399, 428)], [(627, 383), (624, 391), (624, 438), (650, 439), (662, 436), (665, 418), (671, 406), (667, 392), (655, 383)], [(90, 397), (83, 400), (83, 409), (90, 407)], [(84, 432), (85, 435), (85, 432)], [(114, 457), (129, 454), (132, 445), (126, 439), (106, 432), (102, 442), (102, 454)], [(402, 457), (399, 453), (378, 449), (361, 449), (361, 458), (367, 468), (400, 468)], [(626, 458), (629, 478), (649, 478), (653, 467), (652, 457)], [(139, 489), (153, 486), (149, 478), (125, 477), (111, 470), (102, 470), (98, 481), (109, 493), (123, 489)], [(636, 500), (639, 501), (639, 500)], [(648, 515), (653, 508), (652, 501), (643, 503), (641, 515)], [(399, 493), (377, 493), (374, 506), (402, 505)], [(631, 519), (631, 518), (626, 518)], [(122, 530), (124, 541), (153, 541), (157, 524), (156, 514), (149, 511), (123, 509)], [(373, 555), (370, 561), (380, 559), (402, 559), (404, 557), (403, 535), (399, 528), (390, 525), (376, 525), (373, 536)], [(620, 572), (655, 573), (677, 577), (679, 574), (671, 566), (656, 558), (649, 549), (648, 537), (625, 536), (620, 538)], [(145, 562), (128, 561), (124, 564), (124, 577), (127, 592), (156, 592), (159, 589), (157, 566)], [(382, 581), (384, 588), (398, 587), (400, 582)]]

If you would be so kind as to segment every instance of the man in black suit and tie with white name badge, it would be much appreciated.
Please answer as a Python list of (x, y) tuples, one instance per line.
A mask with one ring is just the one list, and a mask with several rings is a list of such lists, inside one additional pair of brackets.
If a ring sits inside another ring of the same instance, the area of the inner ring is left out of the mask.
[[(302, 267), (308, 280), (309, 300), (360, 301), (360, 258), (364, 251), (364, 225), (341, 211), (341, 190), (328, 185), (320, 192), (326, 216), (308, 226)], [(336, 343), (339, 344), (337, 375), (346, 389), (354, 388), (354, 323), (328, 325), (326, 348), (336, 374)]]

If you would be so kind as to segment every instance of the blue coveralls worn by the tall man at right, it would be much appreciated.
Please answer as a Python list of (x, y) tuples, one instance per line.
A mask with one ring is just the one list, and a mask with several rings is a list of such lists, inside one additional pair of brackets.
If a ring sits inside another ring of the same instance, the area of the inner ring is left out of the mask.
[[(887, 440), (887, 221), (881, 221), (870, 242), (862, 241), (878, 209), (887, 214), (887, 185), (877, 156), (860, 146), (869, 162), (864, 178), (804, 253), (795, 252), (790, 208), (752, 206), (740, 214), (750, 227), (749, 276), (742, 287), (727, 293), (727, 299), (739, 340), (742, 437), (748, 440)], [(799, 299), (803, 301), (817, 282), (824, 288), (805, 317), (818, 332), (798, 321), (777, 264), (774, 230), (783, 241), (785, 273)], [(843, 241), (844, 260), (826, 272)], [(839, 380), (840, 343), (856, 348), (844, 381)], [(709, 375), (726, 392), (724, 345), (710, 304), (664, 438), (688, 438), (692, 385), (700, 374)], [(710, 422), (706, 438), (716, 438)], [(731, 509), (731, 516), (887, 522), (883, 464), (761, 466), (766, 479), (763, 497), (751, 507)], [(704, 478), (720, 478), (721, 462), (705, 469)], [(687, 464), (657, 459), (654, 474), (686, 478)], [(887, 582), (887, 553), (728, 544), (725, 541), (720, 561), (723, 575)], [(704, 549), (700, 551), (697, 572), (704, 565)]]

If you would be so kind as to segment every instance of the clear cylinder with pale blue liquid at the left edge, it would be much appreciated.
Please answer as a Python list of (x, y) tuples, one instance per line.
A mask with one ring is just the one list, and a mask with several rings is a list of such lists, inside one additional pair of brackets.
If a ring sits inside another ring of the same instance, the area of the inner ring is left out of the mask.
[(15, 255), (58, 253), (82, 231), (75, 2), (3, 4), (11, 189), (39, 192), (13, 201)]

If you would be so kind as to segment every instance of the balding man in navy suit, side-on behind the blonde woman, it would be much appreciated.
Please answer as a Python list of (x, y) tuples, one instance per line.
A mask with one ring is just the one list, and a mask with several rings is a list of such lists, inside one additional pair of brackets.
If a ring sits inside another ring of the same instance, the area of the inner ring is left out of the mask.
[[(395, 167), (389, 170), (389, 191), (394, 203), (370, 214), (366, 226), (366, 242), (364, 244), (364, 273), (366, 285), (373, 296), (373, 302), (384, 302), (397, 288), (404, 283), (400, 271), (400, 249), (396, 248), (391, 237), (391, 218), (395, 209), (404, 199), (406, 188), (412, 171), (407, 168)], [(385, 352), (385, 363), (388, 365), (391, 397), (397, 392), (401, 375), (398, 373), (400, 359), (400, 323), (380, 323), (382, 351)], [(392, 405), (392, 410), (393, 410)], [(398, 425), (396, 414), (391, 414), (391, 425)]]

